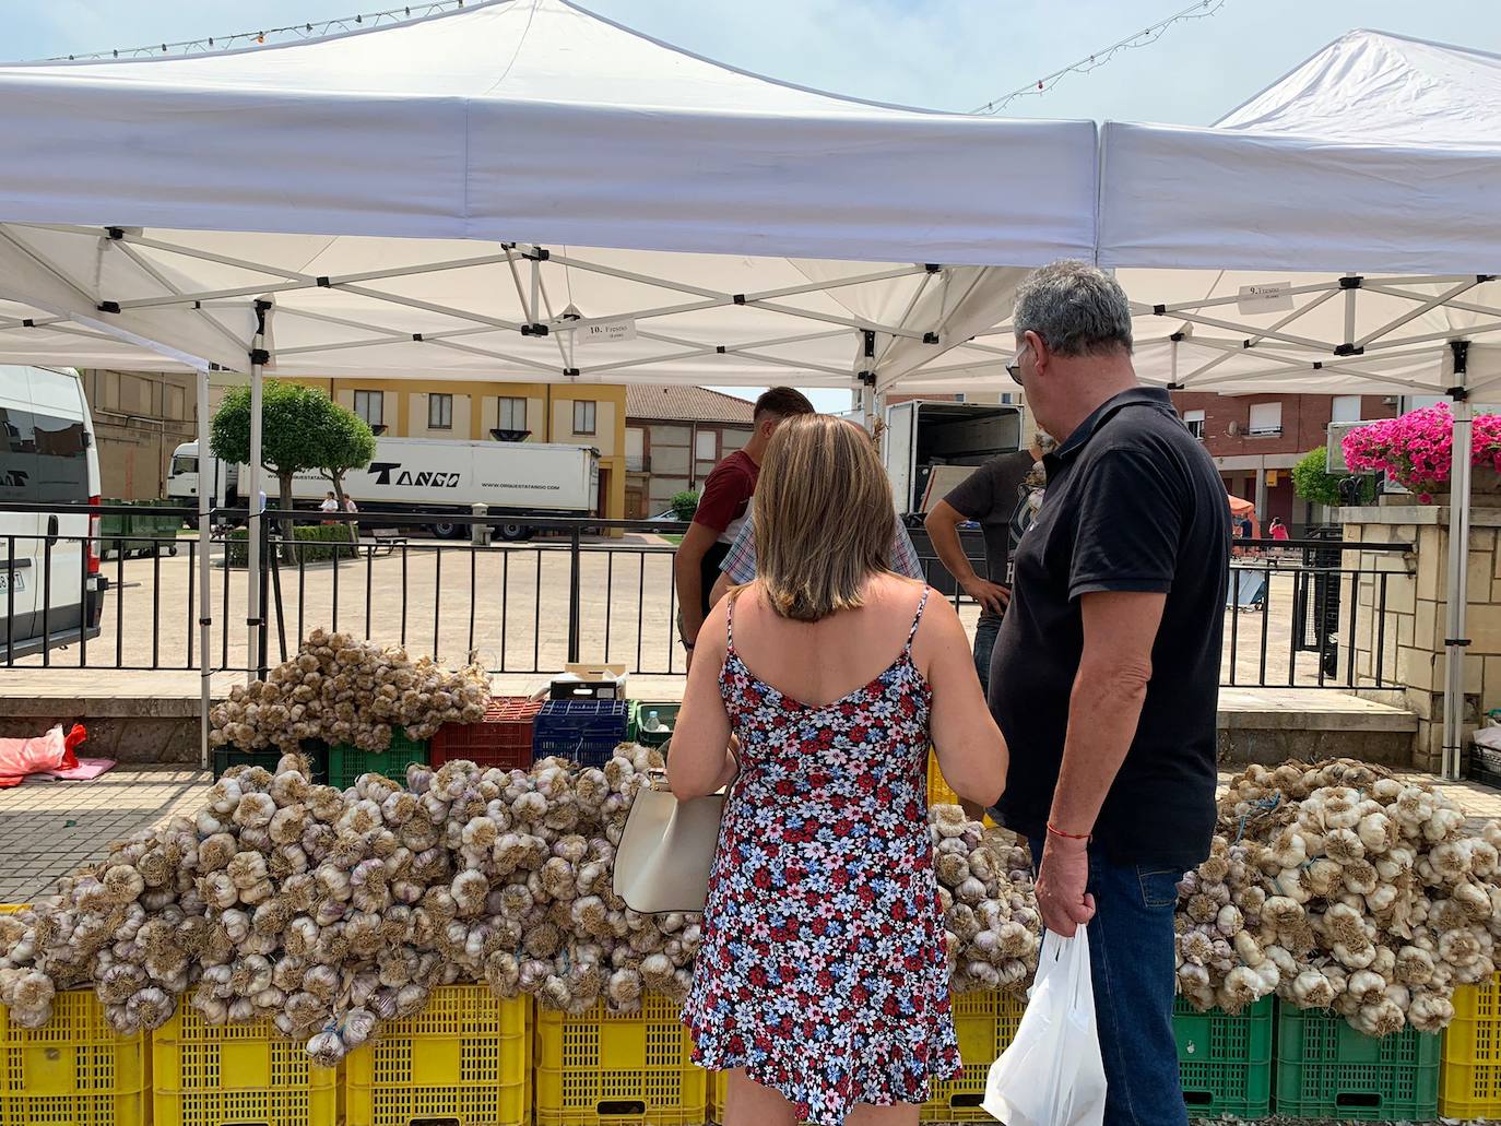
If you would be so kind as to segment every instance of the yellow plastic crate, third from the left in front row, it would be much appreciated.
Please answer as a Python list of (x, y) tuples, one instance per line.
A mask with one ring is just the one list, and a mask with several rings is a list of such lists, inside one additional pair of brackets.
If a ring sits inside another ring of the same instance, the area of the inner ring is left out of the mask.
[(528, 997), (446, 985), (344, 1061), (345, 1126), (524, 1126), (530, 1117)]

